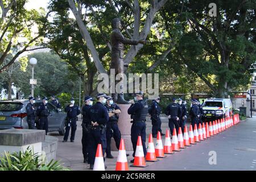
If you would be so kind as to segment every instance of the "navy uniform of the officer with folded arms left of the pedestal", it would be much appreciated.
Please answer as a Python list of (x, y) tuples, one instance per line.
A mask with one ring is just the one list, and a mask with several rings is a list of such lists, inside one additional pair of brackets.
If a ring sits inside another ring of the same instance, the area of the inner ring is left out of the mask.
[[(106, 109), (108, 109), (108, 112), (111, 113), (113, 110), (121, 110), (120, 107), (116, 104), (108, 105), (105, 104)], [(109, 121), (106, 125), (106, 155), (110, 156), (111, 155), (111, 138), (113, 137), (115, 140), (115, 146), (119, 150), (119, 145), (121, 142), (121, 133), (117, 125), (118, 122), (118, 114), (113, 115), (112, 117), (109, 117)]]

